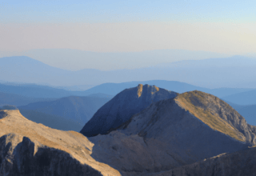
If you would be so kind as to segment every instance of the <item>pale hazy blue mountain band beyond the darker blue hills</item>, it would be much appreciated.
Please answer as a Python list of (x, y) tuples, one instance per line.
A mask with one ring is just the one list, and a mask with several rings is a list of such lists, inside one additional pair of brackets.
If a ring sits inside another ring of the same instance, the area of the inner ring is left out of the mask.
[(256, 88), (256, 59), (235, 56), (166, 63), (134, 70), (62, 70), (25, 56), (0, 58), (0, 80), (51, 86), (99, 85), (106, 82), (173, 80), (218, 88)]

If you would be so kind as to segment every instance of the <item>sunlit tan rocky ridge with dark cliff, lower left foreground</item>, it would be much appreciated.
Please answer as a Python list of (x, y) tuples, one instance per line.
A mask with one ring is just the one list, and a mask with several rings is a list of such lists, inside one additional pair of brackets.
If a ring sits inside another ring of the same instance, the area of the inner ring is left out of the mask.
[(0, 175), (120, 175), (90, 157), (93, 143), (74, 131), (54, 130), (0, 110)]

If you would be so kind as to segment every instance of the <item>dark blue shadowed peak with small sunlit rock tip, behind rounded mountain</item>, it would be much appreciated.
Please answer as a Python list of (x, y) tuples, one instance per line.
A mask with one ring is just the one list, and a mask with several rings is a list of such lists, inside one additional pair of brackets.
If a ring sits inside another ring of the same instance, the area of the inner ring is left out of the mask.
[(144, 110), (152, 102), (174, 98), (178, 93), (139, 84), (137, 87), (123, 90), (102, 106), (82, 128), (80, 133), (86, 137), (98, 134), (108, 134), (123, 122), (127, 122), (132, 115)]

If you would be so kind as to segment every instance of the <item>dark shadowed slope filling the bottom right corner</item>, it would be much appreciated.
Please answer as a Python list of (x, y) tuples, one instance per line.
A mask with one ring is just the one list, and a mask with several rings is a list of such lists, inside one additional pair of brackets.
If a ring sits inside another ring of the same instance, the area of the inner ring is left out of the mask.
[(201, 162), (182, 166), (155, 176), (255, 176), (256, 148), (233, 154), (220, 154)]

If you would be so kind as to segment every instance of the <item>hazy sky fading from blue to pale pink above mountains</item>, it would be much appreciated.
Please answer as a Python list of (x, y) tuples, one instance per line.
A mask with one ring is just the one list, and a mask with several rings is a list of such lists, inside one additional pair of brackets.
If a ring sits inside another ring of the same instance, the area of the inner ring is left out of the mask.
[[(31, 52), (36, 56), (42, 49), (72, 49), (70, 62), (82, 59), (81, 50), (104, 53), (190, 50), (208, 52), (206, 58), (214, 54), (254, 54), (255, 9), (255, 1), (238, 0), (0, 0), (0, 57), (22, 53), (31, 56)], [(80, 50), (80, 55), (74, 50)], [(35, 58), (59, 66), (62, 65), (59, 55), (58, 59), (49, 58), (49, 54)], [(196, 55), (187, 56), (198, 59)], [(146, 62), (146, 58), (138, 59)], [(83, 62), (96, 68), (95, 65), (101, 64), (98, 60), (96, 63), (85, 57)], [(169, 62), (172, 61), (175, 61), (173, 55)], [(110, 62), (114, 64), (111, 59)], [(122, 65), (122, 58), (119, 62)], [(70, 69), (81, 69), (73, 67)]]

